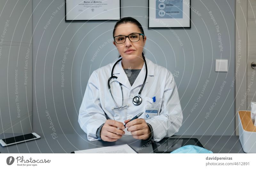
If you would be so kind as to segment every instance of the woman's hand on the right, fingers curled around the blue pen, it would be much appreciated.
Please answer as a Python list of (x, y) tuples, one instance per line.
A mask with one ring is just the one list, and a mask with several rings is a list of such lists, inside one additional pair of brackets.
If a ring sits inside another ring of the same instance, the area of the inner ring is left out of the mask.
[(151, 136), (150, 129), (145, 119), (128, 121), (130, 121), (130, 119), (124, 121), (124, 123), (126, 123), (125, 127), (127, 127), (127, 131), (131, 131), (133, 138), (146, 140)]

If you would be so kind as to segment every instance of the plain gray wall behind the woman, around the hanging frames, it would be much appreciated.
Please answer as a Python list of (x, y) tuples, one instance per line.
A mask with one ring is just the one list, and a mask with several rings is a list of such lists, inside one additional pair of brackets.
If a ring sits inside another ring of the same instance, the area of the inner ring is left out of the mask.
[[(33, 1), (33, 129), (52, 136), (83, 133), (77, 119), (88, 78), (93, 70), (118, 56), (112, 42), (108, 43), (115, 21), (65, 22), (63, 2)], [(148, 0), (122, 0), (121, 16), (132, 16), (144, 26), (148, 37), (146, 57), (172, 73), (179, 71), (175, 81), (184, 118), (178, 134), (234, 135), (235, 0), (193, 0), (191, 5), (201, 16), (191, 11), (191, 28), (174, 30), (183, 46), (171, 30), (147, 28)], [(56, 10), (58, 12), (52, 15)], [(222, 51), (209, 11), (219, 26)], [(45, 27), (50, 18), (49, 26)], [(92, 62), (101, 45), (104, 47)], [(63, 59), (65, 63), (62, 63)], [(228, 59), (228, 72), (215, 72), (215, 59)], [(63, 86), (61, 76), (65, 79)], [(203, 85), (208, 80), (202, 94)], [(218, 94), (223, 81), (226, 84)], [(196, 102), (200, 94), (203, 96)], [(215, 102), (217, 96), (220, 98)], [(197, 106), (191, 112), (195, 104)]]

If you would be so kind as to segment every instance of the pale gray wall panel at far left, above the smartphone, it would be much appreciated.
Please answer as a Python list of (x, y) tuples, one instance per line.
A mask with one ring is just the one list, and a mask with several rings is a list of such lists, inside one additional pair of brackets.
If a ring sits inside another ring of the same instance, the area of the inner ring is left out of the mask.
[(0, 1), (0, 134), (32, 131), (32, 1)]

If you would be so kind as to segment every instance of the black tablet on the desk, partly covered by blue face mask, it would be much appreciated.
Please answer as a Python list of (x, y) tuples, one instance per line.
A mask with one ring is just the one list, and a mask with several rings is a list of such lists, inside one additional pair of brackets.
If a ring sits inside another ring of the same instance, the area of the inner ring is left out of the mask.
[(170, 153), (185, 145), (197, 145), (204, 148), (197, 138), (164, 138), (159, 142), (154, 142), (153, 149), (155, 153)]

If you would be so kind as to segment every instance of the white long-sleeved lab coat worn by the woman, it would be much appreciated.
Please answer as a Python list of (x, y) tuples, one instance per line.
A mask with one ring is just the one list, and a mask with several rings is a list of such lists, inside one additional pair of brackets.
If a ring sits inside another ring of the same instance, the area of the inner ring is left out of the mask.
[[(170, 137), (178, 132), (183, 115), (172, 73), (146, 58), (148, 66), (147, 80), (140, 95), (142, 102), (136, 106), (132, 103), (132, 99), (138, 95), (143, 84), (146, 75), (145, 63), (131, 86), (121, 62), (116, 64), (113, 72), (114, 76), (118, 78), (110, 86), (117, 105), (121, 106), (122, 92), (118, 82), (123, 85), (124, 106), (129, 105), (129, 107), (112, 109), (116, 105), (108, 90), (108, 78), (111, 76), (111, 70), (115, 62), (93, 71), (84, 93), (78, 117), (79, 125), (87, 133), (87, 139), (89, 141), (99, 140), (96, 131), (107, 120), (106, 115), (108, 119), (124, 123), (124, 120), (131, 119), (142, 111), (145, 114), (145, 107), (153, 103), (152, 97), (154, 96), (156, 97), (154, 104), (159, 105), (159, 115), (146, 120), (153, 128), (153, 140), (158, 142), (162, 138)], [(144, 114), (140, 118), (143, 118)]]

